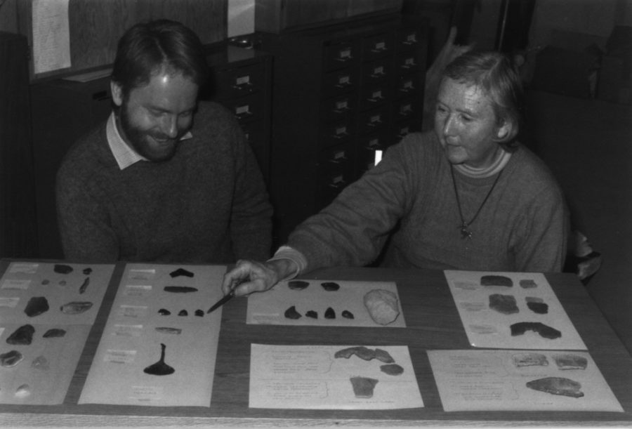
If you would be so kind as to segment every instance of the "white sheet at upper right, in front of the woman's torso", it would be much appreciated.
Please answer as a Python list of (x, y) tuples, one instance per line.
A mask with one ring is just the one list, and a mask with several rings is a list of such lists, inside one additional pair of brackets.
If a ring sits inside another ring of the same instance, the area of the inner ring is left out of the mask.
[[(511, 279), (513, 286), (482, 286), (485, 275), (503, 276)], [(535, 272), (479, 272), (446, 270), (456, 308), (459, 310), (463, 328), (474, 347), (483, 348), (533, 348), (550, 350), (586, 350), (586, 345), (577, 333), (562, 304), (555, 296), (546, 277)], [(518, 312), (504, 314), (490, 308), (490, 296), (513, 296)], [(529, 301), (544, 305), (541, 314), (529, 308)], [(511, 326), (526, 322), (524, 334)], [(541, 324), (559, 331), (558, 338), (545, 338), (533, 331), (532, 323)]]

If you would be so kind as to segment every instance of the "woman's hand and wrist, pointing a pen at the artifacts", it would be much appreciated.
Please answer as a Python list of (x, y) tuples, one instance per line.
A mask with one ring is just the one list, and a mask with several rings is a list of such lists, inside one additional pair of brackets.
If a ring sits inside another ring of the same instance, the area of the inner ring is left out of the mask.
[(272, 288), (279, 280), (289, 277), (298, 270), (289, 259), (271, 260), (265, 263), (255, 260), (238, 260), (235, 268), (224, 275), (224, 294), (235, 291), (235, 296), (246, 296)]

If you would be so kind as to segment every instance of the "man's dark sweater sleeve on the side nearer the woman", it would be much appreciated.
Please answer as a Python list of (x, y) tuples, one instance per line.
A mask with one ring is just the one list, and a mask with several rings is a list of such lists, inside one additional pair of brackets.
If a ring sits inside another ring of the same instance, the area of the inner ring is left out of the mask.
[(235, 195), (230, 220), (233, 252), (237, 259), (266, 260), (272, 253), (272, 206), (261, 169), (234, 118), (230, 133), (235, 142)]

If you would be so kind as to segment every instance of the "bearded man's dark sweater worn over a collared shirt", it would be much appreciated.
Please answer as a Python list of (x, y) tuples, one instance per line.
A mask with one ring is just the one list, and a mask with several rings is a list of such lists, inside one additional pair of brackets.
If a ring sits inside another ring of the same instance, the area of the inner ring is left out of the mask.
[(200, 103), (192, 138), (169, 161), (119, 169), (105, 123), (66, 154), (57, 175), (65, 258), (230, 263), (270, 255), (272, 208), (232, 114)]

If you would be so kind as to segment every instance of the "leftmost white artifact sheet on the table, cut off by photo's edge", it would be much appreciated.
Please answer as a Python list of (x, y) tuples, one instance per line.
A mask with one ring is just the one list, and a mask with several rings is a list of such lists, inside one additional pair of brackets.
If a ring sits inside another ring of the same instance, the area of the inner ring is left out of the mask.
[[(70, 272), (55, 272), (56, 267)], [(113, 271), (114, 265), (107, 264), (8, 265), (0, 278), (0, 355), (19, 352), (22, 359), (0, 368), (0, 403), (62, 404)], [(41, 311), (48, 310), (36, 315), (34, 302), (41, 303)], [(89, 308), (65, 314), (61, 308), (68, 303)], [(31, 342), (7, 342), (22, 326), (32, 326)], [(64, 333), (51, 336), (50, 329)]]

